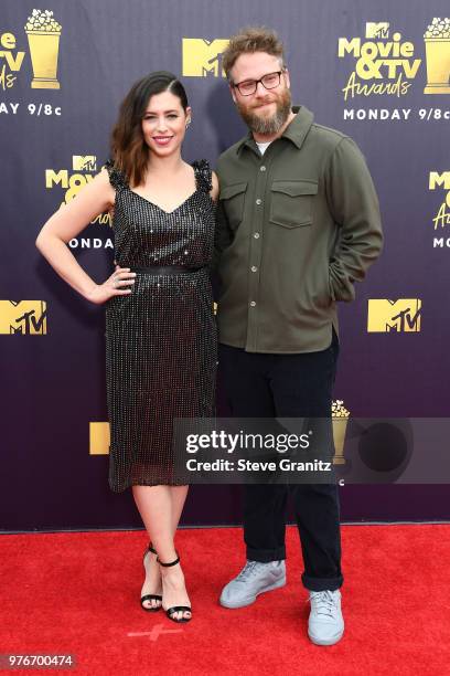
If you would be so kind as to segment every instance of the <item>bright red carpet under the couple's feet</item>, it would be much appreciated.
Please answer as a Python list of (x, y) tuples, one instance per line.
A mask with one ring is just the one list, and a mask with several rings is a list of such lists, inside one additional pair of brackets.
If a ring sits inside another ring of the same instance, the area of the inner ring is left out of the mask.
[(217, 594), (244, 561), (240, 529), (180, 531), (182, 625), (140, 609), (144, 532), (3, 535), (0, 653), (72, 653), (89, 676), (450, 674), (450, 526), (344, 526), (342, 539), (346, 630), (319, 647), (292, 527), (287, 587), (237, 611)]

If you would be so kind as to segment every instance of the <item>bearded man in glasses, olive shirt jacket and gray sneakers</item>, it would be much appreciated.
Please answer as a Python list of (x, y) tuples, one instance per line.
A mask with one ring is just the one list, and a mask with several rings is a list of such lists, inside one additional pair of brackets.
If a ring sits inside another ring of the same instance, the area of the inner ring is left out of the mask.
[[(217, 163), (219, 366), (232, 414), (330, 418), (335, 304), (353, 300), (354, 282), (381, 252), (376, 192), (355, 142), (291, 106), (274, 31), (234, 35), (223, 65), (249, 127)], [(290, 488), (310, 592), (308, 633), (331, 645), (344, 631), (338, 487)], [(275, 484), (244, 487), (247, 563), (222, 591), (225, 608), (286, 584), (287, 493)]]

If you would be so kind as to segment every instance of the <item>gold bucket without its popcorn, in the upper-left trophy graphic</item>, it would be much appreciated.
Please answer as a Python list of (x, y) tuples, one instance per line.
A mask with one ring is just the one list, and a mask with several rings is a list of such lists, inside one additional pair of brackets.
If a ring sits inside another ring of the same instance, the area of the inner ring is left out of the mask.
[(56, 77), (57, 55), (60, 51), (58, 33), (42, 31), (25, 31), (30, 45), (31, 63), (33, 65), (32, 89), (58, 89)]

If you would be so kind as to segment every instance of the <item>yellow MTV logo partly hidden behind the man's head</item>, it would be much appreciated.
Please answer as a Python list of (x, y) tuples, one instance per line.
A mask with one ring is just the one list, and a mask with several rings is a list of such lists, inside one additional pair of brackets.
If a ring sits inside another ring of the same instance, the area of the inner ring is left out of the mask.
[(183, 38), (183, 75), (186, 77), (225, 77), (222, 52), (228, 40)]

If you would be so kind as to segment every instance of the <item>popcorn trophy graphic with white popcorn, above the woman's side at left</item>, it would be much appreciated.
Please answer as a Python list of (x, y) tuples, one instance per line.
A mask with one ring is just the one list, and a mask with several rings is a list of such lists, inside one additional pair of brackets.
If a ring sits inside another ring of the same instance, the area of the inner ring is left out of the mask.
[(53, 19), (53, 12), (33, 9), (26, 20), (25, 33), (34, 74), (31, 88), (58, 89), (56, 72), (61, 24)]

